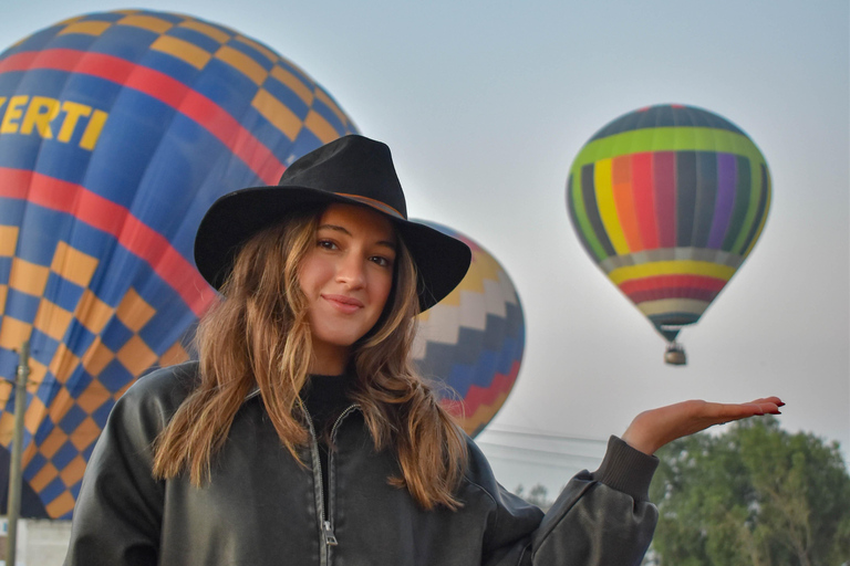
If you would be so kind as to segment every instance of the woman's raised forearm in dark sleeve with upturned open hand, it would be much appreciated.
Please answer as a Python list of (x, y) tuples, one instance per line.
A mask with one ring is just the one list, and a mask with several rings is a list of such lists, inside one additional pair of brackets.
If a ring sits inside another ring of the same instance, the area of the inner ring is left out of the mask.
[(657, 521), (647, 494), (657, 465), (652, 454), (714, 424), (778, 415), (782, 405), (778, 397), (746, 403), (692, 400), (640, 413), (622, 439), (611, 438), (599, 470), (577, 474), (564, 488), (519, 564), (640, 564)]

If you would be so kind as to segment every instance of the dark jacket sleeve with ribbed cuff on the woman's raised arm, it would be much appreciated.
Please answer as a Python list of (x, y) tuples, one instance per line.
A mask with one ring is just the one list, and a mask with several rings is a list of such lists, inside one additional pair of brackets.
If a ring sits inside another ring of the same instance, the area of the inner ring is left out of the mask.
[[(652, 541), (657, 509), (649, 486), (657, 468), (646, 455), (611, 437), (599, 470), (573, 476), (539, 525), (485, 560), (485, 566), (639, 565)], [(516, 512), (506, 514), (509, 524)]]

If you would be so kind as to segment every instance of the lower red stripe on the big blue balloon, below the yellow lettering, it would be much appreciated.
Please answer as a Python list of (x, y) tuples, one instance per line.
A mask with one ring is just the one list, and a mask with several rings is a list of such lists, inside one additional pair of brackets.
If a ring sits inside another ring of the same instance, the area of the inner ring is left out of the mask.
[(25, 169), (0, 167), (0, 197), (65, 212), (113, 235), (131, 253), (146, 261), (196, 316), (204, 314), (215, 296), (200, 273), (166, 238), (125, 207), (85, 187)]

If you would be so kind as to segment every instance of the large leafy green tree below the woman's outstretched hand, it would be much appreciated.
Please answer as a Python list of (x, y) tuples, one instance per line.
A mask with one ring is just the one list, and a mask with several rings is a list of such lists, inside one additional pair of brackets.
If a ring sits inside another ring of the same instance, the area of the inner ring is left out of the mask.
[(790, 434), (768, 417), (678, 439), (657, 455), (652, 564), (850, 564), (850, 476), (837, 442)]

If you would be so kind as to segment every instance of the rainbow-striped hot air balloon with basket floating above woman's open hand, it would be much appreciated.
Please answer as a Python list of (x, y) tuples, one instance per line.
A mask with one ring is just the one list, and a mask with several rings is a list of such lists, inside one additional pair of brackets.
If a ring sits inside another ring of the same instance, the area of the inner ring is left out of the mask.
[(570, 169), (567, 208), (584, 250), (676, 343), (753, 251), (770, 208), (770, 174), (740, 128), (705, 109), (651, 106), (611, 122)]

